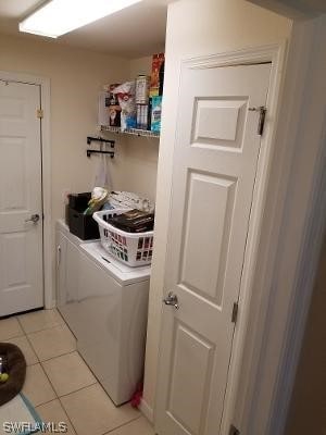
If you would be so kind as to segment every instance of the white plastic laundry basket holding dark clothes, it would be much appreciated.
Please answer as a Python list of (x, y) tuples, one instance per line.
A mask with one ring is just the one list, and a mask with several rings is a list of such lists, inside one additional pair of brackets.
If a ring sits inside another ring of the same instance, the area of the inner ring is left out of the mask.
[(109, 219), (126, 211), (126, 209), (113, 209), (93, 213), (92, 216), (99, 224), (102, 247), (131, 268), (150, 264), (153, 254), (152, 231), (127, 233), (108, 223)]

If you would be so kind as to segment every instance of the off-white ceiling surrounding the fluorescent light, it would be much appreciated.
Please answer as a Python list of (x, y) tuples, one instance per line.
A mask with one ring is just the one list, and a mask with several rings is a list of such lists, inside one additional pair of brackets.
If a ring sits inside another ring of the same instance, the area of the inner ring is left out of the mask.
[[(53, 40), (53, 44), (65, 44), (130, 59), (163, 51), (166, 10), (172, 1), (143, 0), (63, 35)], [(50, 39), (18, 33), (18, 22), (41, 3), (43, 1), (39, 0), (0, 0), (0, 33), (29, 39)]]

